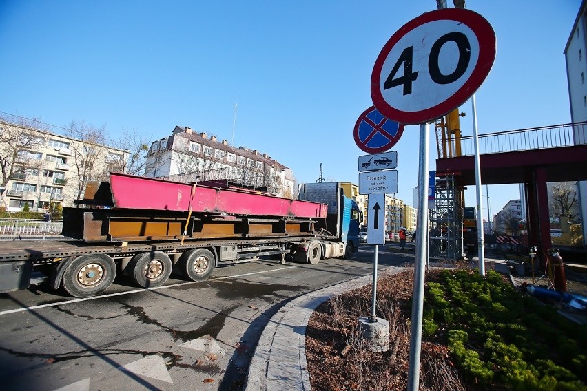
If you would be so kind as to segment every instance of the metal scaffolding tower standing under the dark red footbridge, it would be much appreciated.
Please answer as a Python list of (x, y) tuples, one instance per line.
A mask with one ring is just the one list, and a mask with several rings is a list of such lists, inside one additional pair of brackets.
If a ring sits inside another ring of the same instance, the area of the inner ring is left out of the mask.
[(462, 190), (457, 189), (453, 175), (436, 178), (429, 222), (429, 259), (463, 259)]

